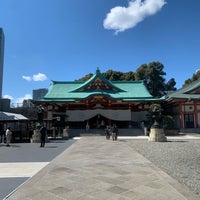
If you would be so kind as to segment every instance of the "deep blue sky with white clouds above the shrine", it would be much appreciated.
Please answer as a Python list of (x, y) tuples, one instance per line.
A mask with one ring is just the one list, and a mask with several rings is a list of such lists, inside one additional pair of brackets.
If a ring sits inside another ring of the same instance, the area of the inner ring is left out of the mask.
[(199, 0), (0, 0), (3, 96), (19, 103), (51, 80), (159, 61), (176, 87), (200, 69)]

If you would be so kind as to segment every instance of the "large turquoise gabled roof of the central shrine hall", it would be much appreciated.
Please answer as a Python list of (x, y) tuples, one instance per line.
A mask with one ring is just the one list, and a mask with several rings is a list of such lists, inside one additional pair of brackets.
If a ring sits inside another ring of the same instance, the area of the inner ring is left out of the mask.
[(99, 71), (86, 82), (53, 81), (44, 102), (66, 102), (107, 96), (122, 101), (154, 101), (143, 81), (109, 81)]

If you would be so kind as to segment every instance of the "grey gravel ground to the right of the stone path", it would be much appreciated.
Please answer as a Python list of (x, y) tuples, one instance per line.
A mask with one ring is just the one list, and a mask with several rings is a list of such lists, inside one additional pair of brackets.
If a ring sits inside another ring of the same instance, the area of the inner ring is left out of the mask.
[(161, 170), (200, 195), (200, 140), (126, 142)]

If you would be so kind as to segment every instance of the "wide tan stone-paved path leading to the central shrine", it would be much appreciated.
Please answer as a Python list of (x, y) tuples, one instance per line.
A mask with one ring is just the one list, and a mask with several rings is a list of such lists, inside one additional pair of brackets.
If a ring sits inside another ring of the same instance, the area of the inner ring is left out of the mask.
[(9, 200), (197, 200), (124, 140), (82, 137)]

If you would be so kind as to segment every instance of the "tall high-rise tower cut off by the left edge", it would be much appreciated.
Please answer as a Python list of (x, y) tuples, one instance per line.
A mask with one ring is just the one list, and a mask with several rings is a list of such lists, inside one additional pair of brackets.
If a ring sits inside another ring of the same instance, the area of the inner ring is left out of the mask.
[(0, 28), (0, 98), (2, 98), (2, 88), (3, 88), (3, 63), (4, 63), (4, 32)]

